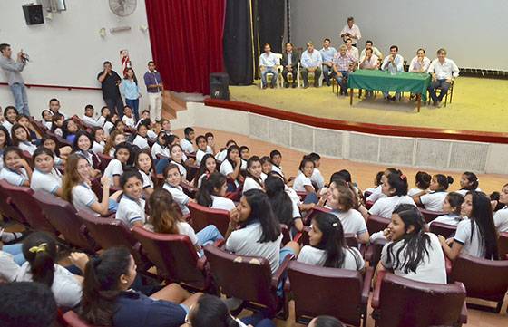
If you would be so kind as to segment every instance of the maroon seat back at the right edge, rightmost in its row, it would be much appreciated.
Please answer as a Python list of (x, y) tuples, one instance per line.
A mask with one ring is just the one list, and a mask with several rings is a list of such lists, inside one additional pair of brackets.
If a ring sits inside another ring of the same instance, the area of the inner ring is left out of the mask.
[(500, 302), (508, 291), (508, 260), (459, 255), (454, 261), (451, 278), (464, 284), (468, 297)]

